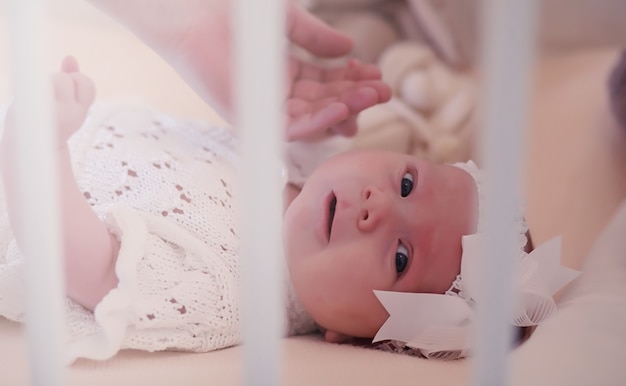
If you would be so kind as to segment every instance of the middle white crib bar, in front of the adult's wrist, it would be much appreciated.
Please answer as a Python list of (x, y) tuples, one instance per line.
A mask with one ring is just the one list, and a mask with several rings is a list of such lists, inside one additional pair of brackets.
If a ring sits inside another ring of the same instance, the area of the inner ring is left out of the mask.
[(282, 138), (284, 3), (237, 0), (237, 121), (243, 154), (242, 315), (245, 385), (281, 384), (284, 321)]

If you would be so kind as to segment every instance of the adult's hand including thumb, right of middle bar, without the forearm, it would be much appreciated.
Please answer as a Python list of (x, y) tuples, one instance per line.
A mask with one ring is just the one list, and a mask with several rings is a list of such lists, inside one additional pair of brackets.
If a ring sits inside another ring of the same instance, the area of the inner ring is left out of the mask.
[[(319, 57), (340, 57), (352, 49), (348, 36), (291, 1), (287, 5), (287, 36), (295, 45)], [(329, 69), (291, 55), (288, 85), (288, 140), (354, 135), (357, 115), (391, 97), (378, 68), (356, 60)]]

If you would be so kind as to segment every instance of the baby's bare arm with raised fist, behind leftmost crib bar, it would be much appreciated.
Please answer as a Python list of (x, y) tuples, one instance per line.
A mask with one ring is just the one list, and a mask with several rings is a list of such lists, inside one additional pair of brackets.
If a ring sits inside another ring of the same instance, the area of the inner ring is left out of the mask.
[[(59, 193), (66, 290), (70, 298), (93, 310), (117, 285), (115, 260), (119, 241), (109, 233), (78, 187), (72, 171), (67, 140), (83, 124), (94, 100), (95, 89), (92, 81), (79, 72), (78, 64), (73, 58), (63, 61), (62, 71), (55, 73), (52, 81), (53, 107), (59, 134), (57, 155), (60, 167)], [(15, 130), (10, 109), (1, 143), (2, 177), (9, 219), (20, 245), (24, 240), (24, 235), (20, 234), (20, 227), (17, 226), (19, 218), (16, 206), (20, 197), (15, 189), (11, 189), (16, 186), (20, 171), (12, 168), (9, 163), (14, 148), (12, 142)]]

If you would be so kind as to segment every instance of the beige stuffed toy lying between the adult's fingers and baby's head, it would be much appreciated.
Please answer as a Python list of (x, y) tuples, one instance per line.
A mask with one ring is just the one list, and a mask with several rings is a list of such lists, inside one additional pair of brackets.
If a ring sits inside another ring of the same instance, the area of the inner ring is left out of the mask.
[(450, 69), (428, 46), (410, 41), (387, 48), (378, 63), (393, 97), (359, 116), (354, 147), (382, 147), (435, 162), (469, 159), (474, 81)]

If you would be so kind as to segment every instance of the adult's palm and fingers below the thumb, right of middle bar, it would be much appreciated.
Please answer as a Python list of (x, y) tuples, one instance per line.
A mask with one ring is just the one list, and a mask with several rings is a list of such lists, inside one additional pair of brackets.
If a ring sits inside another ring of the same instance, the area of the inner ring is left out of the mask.
[(287, 99), (287, 140), (352, 136), (358, 114), (391, 98), (390, 87), (374, 65), (350, 60), (326, 69), (292, 59)]

